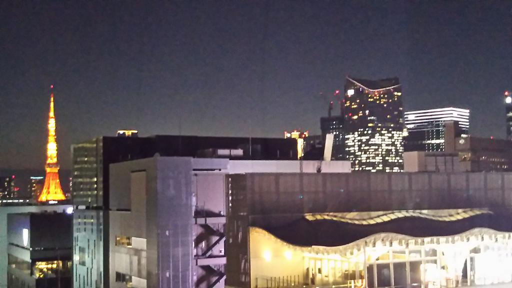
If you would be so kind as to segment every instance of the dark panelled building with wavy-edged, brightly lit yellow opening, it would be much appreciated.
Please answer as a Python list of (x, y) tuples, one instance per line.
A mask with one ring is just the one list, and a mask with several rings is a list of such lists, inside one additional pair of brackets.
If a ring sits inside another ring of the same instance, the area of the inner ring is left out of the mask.
[(226, 285), (511, 283), (511, 176), (229, 175)]

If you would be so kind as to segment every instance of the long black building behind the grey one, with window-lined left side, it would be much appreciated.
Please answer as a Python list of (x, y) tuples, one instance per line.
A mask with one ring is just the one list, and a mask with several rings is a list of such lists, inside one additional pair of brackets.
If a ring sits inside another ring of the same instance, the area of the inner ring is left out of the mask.
[[(229, 153), (228, 153), (229, 152)], [(227, 153), (227, 154), (226, 154)], [(103, 136), (72, 146), (73, 204), (109, 208), (109, 165), (153, 157), (296, 160), (295, 139), (156, 135)]]

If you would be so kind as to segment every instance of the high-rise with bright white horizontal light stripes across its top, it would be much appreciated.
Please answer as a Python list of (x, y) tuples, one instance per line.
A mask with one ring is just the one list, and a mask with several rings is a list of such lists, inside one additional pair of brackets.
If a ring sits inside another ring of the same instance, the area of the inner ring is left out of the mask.
[(468, 134), (470, 110), (439, 108), (404, 113), (404, 151), (454, 152), (455, 138)]

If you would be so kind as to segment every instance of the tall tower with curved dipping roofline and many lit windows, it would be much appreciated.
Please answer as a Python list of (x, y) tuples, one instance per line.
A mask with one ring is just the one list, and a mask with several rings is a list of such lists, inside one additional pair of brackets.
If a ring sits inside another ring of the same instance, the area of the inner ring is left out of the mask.
[(398, 78), (345, 83), (345, 146), (355, 171), (403, 170), (403, 105)]

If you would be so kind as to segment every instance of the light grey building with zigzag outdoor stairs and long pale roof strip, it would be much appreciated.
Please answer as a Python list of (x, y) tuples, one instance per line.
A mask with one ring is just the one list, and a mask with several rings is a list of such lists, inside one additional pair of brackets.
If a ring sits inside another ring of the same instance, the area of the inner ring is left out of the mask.
[(350, 172), (347, 161), (153, 157), (112, 164), (104, 256), (110, 287), (223, 287), (226, 175), (317, 174), (318, 165)]

